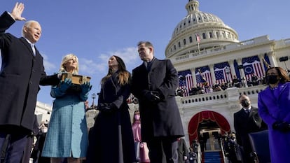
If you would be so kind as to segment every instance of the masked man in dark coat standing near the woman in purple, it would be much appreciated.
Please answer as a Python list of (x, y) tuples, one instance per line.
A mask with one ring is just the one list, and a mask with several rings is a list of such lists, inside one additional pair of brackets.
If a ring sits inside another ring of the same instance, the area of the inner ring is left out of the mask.
[(251, 163), (253, 159), (250, 157), (251, 144), (248, 134), (267, 129), (267, 126), (260, 115), (258, 115), (258, 108), (251, 106), (251, 101), (247, 95), (240, 95), (239, 101), (242, 108), (233, 115), (235, 133), (237, 136), (237, 143), (244, 149), (244, 162)]

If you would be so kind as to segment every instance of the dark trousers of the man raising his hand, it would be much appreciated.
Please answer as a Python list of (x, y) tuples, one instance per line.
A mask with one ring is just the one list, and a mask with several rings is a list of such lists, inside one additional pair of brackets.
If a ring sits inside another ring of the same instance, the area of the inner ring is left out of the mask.
[[(2, 149), (8, 134), (0, 132), (0, 148)], [(10, 134), (7, 142), (5, 163), (20, 163), (22, 156), (27, 145), (27, 134)], [(4, 148), (5, 149), (5, 148)]]

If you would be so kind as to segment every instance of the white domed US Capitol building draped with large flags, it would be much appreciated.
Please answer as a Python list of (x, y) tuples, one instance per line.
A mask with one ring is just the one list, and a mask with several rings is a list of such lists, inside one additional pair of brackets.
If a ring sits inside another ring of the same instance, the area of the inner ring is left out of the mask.
[[(180, 96), (177, 104), (183, 120), (187, 144), (200, 135), (207, 137), (208, 151), (220, 150), (216, 134), (235, 132), (233, 113), (240, 110), (240, 94), (247, 94), (252, 106), (257, 106), (258, 92), (265, 88), (263, 76), (267, 66), (281, 66), (289, 72), (290, 38), (271, 40), (259, 36), (239, 41), (235, 29), (212, 13), (199, 10), (199, 1), (189, 0), (187, 15), (172, 29), (172, 38), (165, 49), (179, 73)], [(251, 83), (257, 76), (258, 84)], [(233, 85), (235, 76), (240, 79)], [(205, 84), (206, 83), (206, 84)], [(220, 91), (205, 89), (192, 93), (193, 87), (215, 87), (229, 83)], [(138, 104), (130, 104), (134, 112)], [(48, 120), (51, 107), (37, 103), (36, 114)], [(92, 114), (92, 115), (90, 115)], [(88, 113), (88, 126), (94, 113)]]

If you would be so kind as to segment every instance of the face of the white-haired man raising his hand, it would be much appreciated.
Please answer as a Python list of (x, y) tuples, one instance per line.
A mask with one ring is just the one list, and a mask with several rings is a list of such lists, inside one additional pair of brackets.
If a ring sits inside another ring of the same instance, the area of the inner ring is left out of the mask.
[(32, 22), (29, 27), (25, 27), (24, 36), (30, 42), (36, 43), (41, 37), (41, 26), (37, 22)]

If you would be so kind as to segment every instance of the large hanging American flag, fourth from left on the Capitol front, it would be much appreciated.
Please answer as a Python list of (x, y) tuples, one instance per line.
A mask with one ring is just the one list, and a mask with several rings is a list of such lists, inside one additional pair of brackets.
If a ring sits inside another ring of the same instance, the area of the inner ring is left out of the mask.
[(259, 78), (264, 76), (258, 56), (243, 58), (242, 65), (244, 66), (244, 75), (246, 75), (247, 80), (251, 80), (252, 73)]

